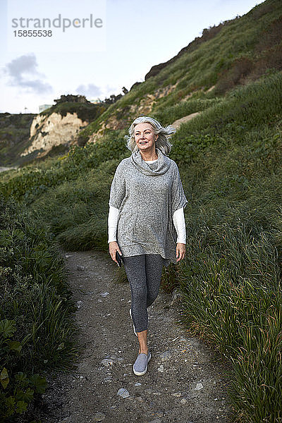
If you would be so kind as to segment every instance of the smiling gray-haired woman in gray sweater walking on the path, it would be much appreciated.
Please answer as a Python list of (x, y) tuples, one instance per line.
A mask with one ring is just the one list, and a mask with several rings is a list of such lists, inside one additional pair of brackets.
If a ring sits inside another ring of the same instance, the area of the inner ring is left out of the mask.
[(133, 121), (127, 136), (131, 157), (123, 159), (114, 175), (109, 200), (109, 252), (123, 257), (131, 291), (130, 316), (139, 341), (133, 372), (147, 372), (147, 307), (159, 293), (163, 265), (185, 256), (187, 200), (178, 166), (167, 155), (168, 138), (175, 130), (153, 118)]

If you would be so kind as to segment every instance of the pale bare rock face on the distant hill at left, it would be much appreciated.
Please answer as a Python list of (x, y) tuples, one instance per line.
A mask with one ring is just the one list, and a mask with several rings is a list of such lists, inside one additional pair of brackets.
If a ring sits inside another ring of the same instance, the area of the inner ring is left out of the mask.
[(35, 151), (46, 154), (52, 147), (71, 144), (87, 124), (88, 122), (82, 121), (76, 113), (67, 113), (66, 116), (58, 113), (52, 113), (49, 116), (39, 114), (30, 126), (31, 145), (21, 156)]

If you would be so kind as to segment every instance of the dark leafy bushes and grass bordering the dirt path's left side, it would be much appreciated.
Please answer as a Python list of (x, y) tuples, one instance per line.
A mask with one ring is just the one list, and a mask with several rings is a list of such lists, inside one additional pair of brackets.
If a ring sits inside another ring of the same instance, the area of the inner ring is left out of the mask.
[(58, 247), (23, 205), (1, 200), (0, 245), (0, 420), (25, 422), (44, 375), (73, 365), (75, 307)]

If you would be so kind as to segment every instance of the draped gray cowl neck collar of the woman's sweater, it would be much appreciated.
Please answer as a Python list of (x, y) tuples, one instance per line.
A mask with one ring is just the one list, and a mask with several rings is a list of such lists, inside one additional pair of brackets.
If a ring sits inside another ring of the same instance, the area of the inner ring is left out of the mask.
[(131, 162), (141, 173), (148, 176), (163, 175), (171, 166), (170, 160), (166, 157), (159, 148), (156, 148), (158, 160), (154, 163), (148, 164), (142, 159), (140, 150), (131, 154)]

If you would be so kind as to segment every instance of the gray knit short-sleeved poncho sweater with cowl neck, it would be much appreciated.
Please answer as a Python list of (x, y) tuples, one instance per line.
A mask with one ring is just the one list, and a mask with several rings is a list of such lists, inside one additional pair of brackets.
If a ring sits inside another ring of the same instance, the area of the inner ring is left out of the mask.
[(147, 164), (140, 151), (123, 159), (111, 183), (109, 205), (119, 209), (116, 239), (123, 257), (159, 254), (176, 263), (173, 213), (188, 203), (178, 166), (161, 150)]

